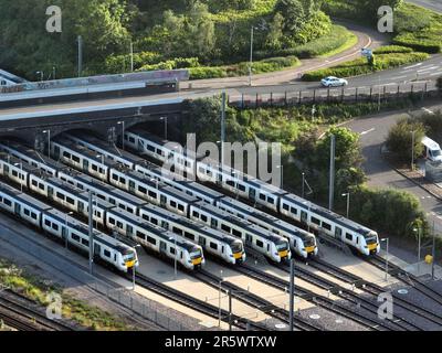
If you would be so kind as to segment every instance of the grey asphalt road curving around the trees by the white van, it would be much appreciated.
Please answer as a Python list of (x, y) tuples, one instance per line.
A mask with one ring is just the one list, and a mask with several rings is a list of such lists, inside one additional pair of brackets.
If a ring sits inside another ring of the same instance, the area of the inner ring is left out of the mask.
[[(425, 109), (442, 109), (442, 105), (429, 106)], [(418, 114), (419, 111), (411, 111)], [(388, 131), (396, 121), (407, 114), (381, 114), (373, 117), (356, 119), (345, 126), (360, 133), (362, 154), (366, 159), (364, 169), (372, 188), (394, 188), (414, 194), (423, 210), (430, 214), (430, 224), (434, 220), (436, 234), (442, 234), (442, 203), (413, 182), (393, 171), (380, 156), (380, 148), (387, 139)], [(432, 215), (434, 213), (434, 215)]]

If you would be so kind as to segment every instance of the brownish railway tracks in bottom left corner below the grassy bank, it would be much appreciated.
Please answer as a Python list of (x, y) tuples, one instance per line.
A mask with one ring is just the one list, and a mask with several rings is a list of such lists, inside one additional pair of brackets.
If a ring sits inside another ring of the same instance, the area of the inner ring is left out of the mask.
[(3, 290), (0, 292), (0, 318), (19, 331), (72, 331), (71, 325), (48, 319), (36, 309), (24, 303), (22, 296)]

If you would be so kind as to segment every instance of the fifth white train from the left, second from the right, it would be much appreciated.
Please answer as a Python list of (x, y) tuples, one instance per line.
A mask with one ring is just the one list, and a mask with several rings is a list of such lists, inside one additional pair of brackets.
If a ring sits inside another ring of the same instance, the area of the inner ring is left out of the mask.
[(152, 181), (161, 181), (164, 184), (172, 186), (173, 189), (193, 196), (199, 201), (204, 201), (209, 204), (215, 205), (234, 216), (246, 220), (248, 222), (263, 227), (276, 235), (284, 236), (287, 238), (291, 249), (304, 258), (307, 258), (308, 255), (317, 255), (318, 248), (316, 245), (316, 238), (312, 233), (297, 228), (285, 221), (272, 217), (265, 212), (254, 210), (238, 200), (224, 196), (222, 193), (197, 182), (186, 180), (180, 175), (146, 161), (145, 159), (118, 150), (115, 146), (105, 143), (95, 137), (69, 133), (65, 135), (65, 138), (74, 141), (76, 145), (81, 145), (94, 152), (98, 152), (102, 156), (109, 158), (114, 162), (123, 163), (128, 169), (144, 174), (144, 176), (147, 176)]

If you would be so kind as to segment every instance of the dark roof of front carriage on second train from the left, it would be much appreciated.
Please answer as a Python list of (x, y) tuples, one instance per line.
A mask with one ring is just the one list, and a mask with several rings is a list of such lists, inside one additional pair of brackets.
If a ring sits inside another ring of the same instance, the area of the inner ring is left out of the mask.
[(190, 243), (182, 237), (166, 231), (159, 226), (156, 226), (155, 224), (147, 222), (146, 220), (134, 216), (131, 213), (128, 213), (123, 210), (118, 211), (109, 211), (109, 215), (114, 215), (116, 217), (123, 218), (128, 223), (135, 224), (138, 227), (141, 227), (143, 229), (149, 232), (150, 234), (154, 234), (157, 237), (160, 237), (161, 239), (168, 240), (168, 242), (175, 242), (175, 238), (177, 239), (177, 245), (187, 249), (188, 252), (192, 252), (196, 248), (196, 245), (193, 243)]

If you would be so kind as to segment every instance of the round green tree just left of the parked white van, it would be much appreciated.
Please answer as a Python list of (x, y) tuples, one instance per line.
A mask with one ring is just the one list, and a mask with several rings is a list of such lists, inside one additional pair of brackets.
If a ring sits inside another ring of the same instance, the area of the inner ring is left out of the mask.
[(407, 118), (402, 118), (388, 132), (387, 147), (401, 161), (408, 161), (411, 158), (413, 139), (411, 131), (414, 131), (414, 158), (418, 158), (423, 152), (421, 141), (427, 131), (422, 122), (409, 121)]

